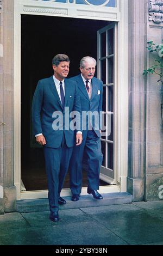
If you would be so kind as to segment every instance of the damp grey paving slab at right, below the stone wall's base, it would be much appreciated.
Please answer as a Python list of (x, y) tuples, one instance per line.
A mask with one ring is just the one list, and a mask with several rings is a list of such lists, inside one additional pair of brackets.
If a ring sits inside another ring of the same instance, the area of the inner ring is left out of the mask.
[(108, 206), (108, 210), (102, 208), (82, 210), (93, 215), (95, 220), (131, 245), (162, 242), (163, 221), (151, 216), (146, 210), (135, 209), (135, 207), (134, 205), (122, 206), (121, 210), (114, 206), (112, 211), (111, 206)]

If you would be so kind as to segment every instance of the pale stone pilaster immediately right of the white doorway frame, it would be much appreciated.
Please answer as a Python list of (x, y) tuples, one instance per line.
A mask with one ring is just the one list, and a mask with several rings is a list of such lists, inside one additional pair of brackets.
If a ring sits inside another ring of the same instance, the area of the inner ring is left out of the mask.
[(127, 191), (145, 196), (147, 1), (129, 0), (129, 135)]

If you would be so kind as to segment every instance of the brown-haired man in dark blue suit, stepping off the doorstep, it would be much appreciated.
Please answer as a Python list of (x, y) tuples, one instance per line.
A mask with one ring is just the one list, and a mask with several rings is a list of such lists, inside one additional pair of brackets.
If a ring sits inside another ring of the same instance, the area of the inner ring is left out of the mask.
[[(32, 103), (33, 130), (36, 141), (43, 145), (48, 180), (49, 218), (58, 221), (58, 204), (66, 201), (60, 197), (73, 146), (82, 143), (82, 131), (70, 129), (72, 111), (79, 113), (81, 105), (76, 82), (66, 79), (70, 60), (65, 54), (57, 54), (52, 60), (54, 75), (38, 82)], [(66, 112), (68, 120), (65, 121)]]

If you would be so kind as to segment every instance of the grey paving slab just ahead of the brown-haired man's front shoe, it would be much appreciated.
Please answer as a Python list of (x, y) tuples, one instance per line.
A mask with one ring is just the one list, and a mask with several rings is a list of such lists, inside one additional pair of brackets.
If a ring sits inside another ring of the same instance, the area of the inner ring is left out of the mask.
[(117, 235), (95, 221), (69, 223), (37, 229), (44, 245), (126, 245)]

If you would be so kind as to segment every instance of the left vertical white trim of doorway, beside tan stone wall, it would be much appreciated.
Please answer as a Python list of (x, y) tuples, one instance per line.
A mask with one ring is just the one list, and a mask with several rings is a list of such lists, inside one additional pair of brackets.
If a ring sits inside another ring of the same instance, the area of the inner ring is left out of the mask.
[(21, 14), (14, 4), (14, 185), (21, 198)]

